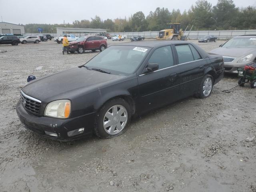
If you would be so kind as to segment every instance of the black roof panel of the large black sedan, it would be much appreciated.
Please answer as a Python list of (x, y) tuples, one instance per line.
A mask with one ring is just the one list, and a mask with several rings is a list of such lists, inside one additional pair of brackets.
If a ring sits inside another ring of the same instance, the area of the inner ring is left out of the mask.
[(172, 45), (172, 44), (184, 44), (190, 43), (185, 41), (170, 41), (170, 40), (149, 40), (149, 41), (133, 41), (126, 42), (118, 45), (128, 45), (128, 46), (142, 46), (142, 47), (155, 47), (160, 45)]

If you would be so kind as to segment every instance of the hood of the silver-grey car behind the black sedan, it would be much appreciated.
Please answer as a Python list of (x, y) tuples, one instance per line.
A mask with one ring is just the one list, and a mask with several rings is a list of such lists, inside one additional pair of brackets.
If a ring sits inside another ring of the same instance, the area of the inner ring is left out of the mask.
[(211, 53), (219, 54), (222, 56), (242, 57), (247, 54), (256, 52), (255, 48), (226, 48), (219, 47), (210, 51)]

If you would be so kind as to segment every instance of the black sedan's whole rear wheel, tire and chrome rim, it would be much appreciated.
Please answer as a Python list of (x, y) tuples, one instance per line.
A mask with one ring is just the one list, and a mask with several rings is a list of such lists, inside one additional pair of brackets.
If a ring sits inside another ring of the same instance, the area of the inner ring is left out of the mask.
[(214, 82), (214, 79), (210, 74), (205, 75), (199, 86), (196, 97), (198, 98), (209, 97), (212, 94), (213, 82)]

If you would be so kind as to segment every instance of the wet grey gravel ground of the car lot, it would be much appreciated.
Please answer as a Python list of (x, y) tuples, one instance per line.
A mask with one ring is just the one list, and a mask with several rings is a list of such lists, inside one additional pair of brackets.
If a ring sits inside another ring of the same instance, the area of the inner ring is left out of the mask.
[(0, 192), (256, 192), (256, 90), (222, 92), (237, 85), (236, 76), (226, 75), (209, 98), (133, 119), (121, 136), (56, 142), (21, 125), (20, 87), (30, 74), (79, 66), (98, 52), (62, 55), (53, 41), (0, 50), (10, 51), (0, 53)]

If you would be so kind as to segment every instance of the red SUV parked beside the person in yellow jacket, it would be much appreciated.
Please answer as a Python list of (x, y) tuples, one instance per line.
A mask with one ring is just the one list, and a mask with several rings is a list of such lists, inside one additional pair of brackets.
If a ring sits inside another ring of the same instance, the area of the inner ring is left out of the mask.
[(104, 51), (107, 48), (107, 41), (100, 36), (82, 36), (76, 41), (69, 43), (69, 51), (74, 53), (84, 53), (85, 50)]

